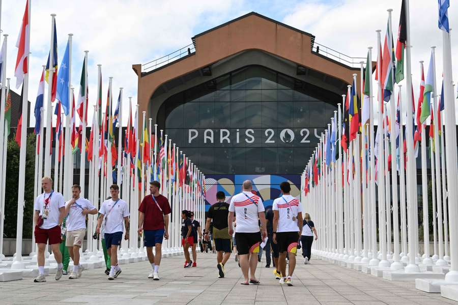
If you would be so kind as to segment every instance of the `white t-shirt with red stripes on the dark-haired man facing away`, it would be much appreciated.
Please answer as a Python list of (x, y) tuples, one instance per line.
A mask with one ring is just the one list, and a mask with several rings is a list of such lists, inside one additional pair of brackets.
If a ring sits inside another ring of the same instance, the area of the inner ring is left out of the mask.
[(278, 211), (277, 232), (299, 232), (297, 215), (302, 213), (299, 199), (291, 195), (283, 195), (274, 200), (272, 210)]

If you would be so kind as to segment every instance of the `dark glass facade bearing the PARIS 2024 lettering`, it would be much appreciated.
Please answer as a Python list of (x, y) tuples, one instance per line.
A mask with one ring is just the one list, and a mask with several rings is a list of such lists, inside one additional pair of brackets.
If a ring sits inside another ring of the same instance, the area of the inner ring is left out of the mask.
[(299, 174), (339, 101), (248, 66), (168, 98), (158, 123), (206, 174)]

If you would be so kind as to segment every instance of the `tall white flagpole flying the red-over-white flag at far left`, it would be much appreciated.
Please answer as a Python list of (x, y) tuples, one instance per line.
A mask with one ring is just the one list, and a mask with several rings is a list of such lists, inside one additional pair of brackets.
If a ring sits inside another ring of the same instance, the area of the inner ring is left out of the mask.
[[(30, 26), (31, 1), (28, 2), (28, 25)], [(27, 71), (30, 66), (30, 54), (27, 54)], [(51, 63), (52, 61), (50, 61)], [(21, 147), (19, 152), (19, 185), (17, 196), (17, 225), (16, 225), (16, 256), (13, 258), (12, 269), (24, 269), (22, 261), (22, 223), (24, 219), (24, 193), (25, 193), (25, 153), (27, 146), (27, 118), (28, 118), (28, 73), (24, 74), (22, 83), (22, 126), (21, 126)], [(49, 126), (49, 125), (48, 125)], [(49, 130), (49, 128), (47, 128)], [(48, 141), (49, 142), (49, 141)]]

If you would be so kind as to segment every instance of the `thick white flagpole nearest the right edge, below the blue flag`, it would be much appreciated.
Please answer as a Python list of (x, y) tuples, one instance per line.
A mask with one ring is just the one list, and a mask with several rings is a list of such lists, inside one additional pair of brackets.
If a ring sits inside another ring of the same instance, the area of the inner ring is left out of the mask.
[[(447, 168), (447, 182), (451, 186), (447, 190), (448, 202), (451, 202), (448, 210), (449, 219), (455, 220), (458, 215), (458, 209), (456, 208), (456, 201), (458, 193), (456, 185), (458, 185), (458, 160), (456, 157), (456, 115), (455, 115), (455, 101), (453, 97), (453, 79), (452, 79), (452, 62), (451, 62), (451, 45), (450, 45), (450, 34), (442, 31), (443, 41), (443, 57), (444, 57), (444, 107), (447, 111), (445, 114), (445, 138), (450, 139), (449, 145), (447, 145), (445, 151), (446, 165)], [(456, 237), (458, 235), (458, 223), (456, 221), (450, 221), (450, 249), (458, 249), (456, 245)], [(458, 281), (458, 251), (450, 252), (450, 271), (445, 275), (446, 281)]]

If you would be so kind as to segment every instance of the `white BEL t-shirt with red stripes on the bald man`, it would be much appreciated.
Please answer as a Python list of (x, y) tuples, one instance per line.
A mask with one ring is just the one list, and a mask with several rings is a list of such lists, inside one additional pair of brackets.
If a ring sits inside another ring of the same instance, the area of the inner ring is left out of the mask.
[(237, 194), (231, 199), (229, 211), (235, 212), (237, 219), (235, 231), (237, 233), (256, 233), (260, 231), (258, 213), (264, 212), (264, 204), (261, 197), (253, 195), (251, 192)]

